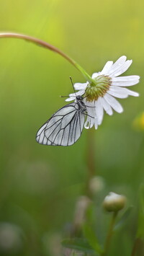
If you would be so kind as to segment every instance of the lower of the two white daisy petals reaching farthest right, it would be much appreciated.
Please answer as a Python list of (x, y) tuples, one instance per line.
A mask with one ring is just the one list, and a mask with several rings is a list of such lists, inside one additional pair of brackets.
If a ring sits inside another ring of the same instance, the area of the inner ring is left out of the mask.
[(128, 95), (132, 95), (132, 96), (135, 96), (135, 97), (139, 96), (138, 92), (133, 92), (130, 89), (127, 89), (127, 88), (114, 87), (114, 86), (110, 86), (107, 93), (111, 94), (114, 97), (118, 97), (120, 99), (125, 99), (125, 98), (128, 97)]

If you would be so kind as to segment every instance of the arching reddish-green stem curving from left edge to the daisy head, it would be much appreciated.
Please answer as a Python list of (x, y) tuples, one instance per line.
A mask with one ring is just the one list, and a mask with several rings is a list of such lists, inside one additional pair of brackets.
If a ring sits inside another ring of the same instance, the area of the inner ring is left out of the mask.
[(73, 66), (75, 66), (76, 69), (78, 69), (78, 71), (80, 71), (88, 81), (92, 81), (91, 76), (89, 76), (89, 74), (87, 74), (86, 71), (78, 63), (76, 63), (76, 61), (74, 61), (72, 58), (67, 56), (66, 53), (63, 53), (63, 51), (59, 50), (55, 46), (50, 45), (50, 43), (46, 43), (43, 40), (37, 39), (35, 37), (31, 37), (29, 35), (23, 35), (23, 34), (14, 33), (14, 32), (1, 32), (0, 37), (19, 38), (19, 39), (27, 40), (31, 43), (35, 43), (36, 45), (42, 46), (49, 50), (52, 50), (53, 52), (60, 54), (60, 56), (62, 56), (63, 58), (66, 58), (66, 60), (69, 61)]

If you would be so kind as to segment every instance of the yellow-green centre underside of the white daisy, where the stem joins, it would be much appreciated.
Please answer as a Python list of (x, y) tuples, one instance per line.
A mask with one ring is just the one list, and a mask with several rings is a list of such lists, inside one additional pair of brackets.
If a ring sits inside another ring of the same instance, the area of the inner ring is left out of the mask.
[(84, 95), (86, 100), (92, 102), (93, 100), (97, 100), (99, 97), (103, 97), (109, 89), (111, 83), (112, 79), (109, 76), (97, 76), (94, 79), (94, 82), (91, 82), (86, 87), (86, 92)]

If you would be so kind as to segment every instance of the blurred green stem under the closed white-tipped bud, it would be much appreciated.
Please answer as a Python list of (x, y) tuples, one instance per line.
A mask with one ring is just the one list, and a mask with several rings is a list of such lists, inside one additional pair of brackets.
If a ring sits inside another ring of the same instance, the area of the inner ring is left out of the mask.
[(106, 238), (106, 241), (105, 241), (105, 244), (104, 244), (104, 252), (102, 253), (102, 256), (106, 256), (107, 252), (109, 250), (109, 245), (110, 245), (110, 242), (111, 242), (111, 239), (112, 239), (112, 233), (113, 233), (116, 218), (117, 218), (117, 211), (115, 211), (112, 215), (112, 220), (111, 220), (111, 223), (109, 225), (109, 230), (107, 232), (107, 238)]

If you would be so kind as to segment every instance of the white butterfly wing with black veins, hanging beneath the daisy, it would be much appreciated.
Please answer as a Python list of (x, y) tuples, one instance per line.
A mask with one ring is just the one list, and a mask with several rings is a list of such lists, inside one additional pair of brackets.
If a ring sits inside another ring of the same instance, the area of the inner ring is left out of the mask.
[(84, 128), (84, 112), (78, 110), (78, 104), (73, 102), (57, 112), (37, 132), (39, 144), (50, 146), (71, 146)]

